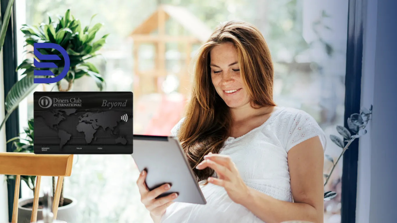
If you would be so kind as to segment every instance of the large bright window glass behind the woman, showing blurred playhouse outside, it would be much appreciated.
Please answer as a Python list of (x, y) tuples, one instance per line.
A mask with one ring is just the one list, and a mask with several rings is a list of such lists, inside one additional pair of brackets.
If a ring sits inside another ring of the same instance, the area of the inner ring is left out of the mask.
[[(104, 23), (97, 38), (106, 33), (110, 35), (101, 49), (103, 56), (90, 62), (106, 80), (105, 90), (134, 92), (136, 134), (168, 135), (182, 117), (185, 100), (189, 98), (189, 67), (200, 42), (220, 21), (251, 22), (262, 31), (272, 53), (276, 103), (310, 113), (328, 136), (337, 135), (336, 125), (344, 123), (347, 2), (163, 0), (162, 3), (170, 4), (160, 12), (166, 14), (165, 31), (170, 41), (164, 45), (138, 44), (148, 30), (152, 31), (153, 39), (161, 32), (151, 27), (150, 22), (150, 17), (159, 10), (156, 2), (19, 0), (16, 1), (17, 28), (19, 30), (22, 24), (47, 23), (48, 14), (56, 18), (69, 8), (83, 26), (97, 14), (93, 23)], [(189, 24), (194, 24), (194, 29)], [(17, 40), (20, 63), (25, 59), (21, 56), (25, 49), (20, 31)], [(56, 88), (39, 85), (36, 90)], [(84, 77), (75, 82), (72, 90), (98, 88), (89, 77)], [(32, 101), (33, 94), (19, 106), (21, 131), (27, 119), (33, 117)], [(326, 154), (336, 159), (340, 148), (329, 140)], [(342, 163), (339, 164), (325, 190), (336, 190), (340, 194)], [(324, 171), (329, 169), (330, 163), (326, 162)], [(128, 155), (75, 156), (72, 175), (65, 179), (64, 195), (78, 198), (79, 217), (83, 222), (151, 222), (140, 203), (135, 184), (138, 175)], [(49, 178), (46, 180), (50, 183)], [(25, 187), (22, 196), (33, 194)], [(340, 195), (325, 202), (324, 208), (325, 222), (340, 222)]]

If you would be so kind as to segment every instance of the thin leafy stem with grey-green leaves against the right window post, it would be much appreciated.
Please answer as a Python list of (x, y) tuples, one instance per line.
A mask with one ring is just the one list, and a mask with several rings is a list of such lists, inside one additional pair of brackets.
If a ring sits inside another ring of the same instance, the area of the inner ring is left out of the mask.
[[(363, 136), (367, 133), (367, 131), (365, 130), (365, 127), (368, 124), (368, 121), (371, 119), (370, 118), (371, 114), (372, 114), (372, 105), (369, 110), (363, 107), (360, 109), (360, 113), (354, 113), (354, 114), (350, 115), (350, 117), (347, 118), (347, 125), (348, 125), (350, 131), (346, 127), (338, 125), (336, 127), (336, 130), (345, 140), (342, 140), (342, 138), (340, 138), (339, 136), (330, 135), (332, 142), (334, 142), (335, 144), (337, 144), (337, 146), (342, 148), (342, 152), (335, 162), (333, 161), (333, 158), (331, 156), (325, 155), (325, 158), (328, 161), (332, 162), (333, 165), (332, 165), (331, 171), (329, 173), (324, 173), (324, 177), (326, 178), (324, 186), (327, 185), (327, 183), (331, 177), (331, 174), (332, 174), (333, 170), (335, 169), (338, 161), (341, 159), (343, 154), (345, 154), (345, 152), (349, 148), (350, 144), (356, 138), (360, 138), (360, 136)], [(351, 134), (351, 132), (354, 135)], [(344, 142), (347, 142), (347, 144), (345, 145)], [(337, 195), (336, 192), (327, 191), (324, 193), (324, 200), (331, 200), (336, 195)]]

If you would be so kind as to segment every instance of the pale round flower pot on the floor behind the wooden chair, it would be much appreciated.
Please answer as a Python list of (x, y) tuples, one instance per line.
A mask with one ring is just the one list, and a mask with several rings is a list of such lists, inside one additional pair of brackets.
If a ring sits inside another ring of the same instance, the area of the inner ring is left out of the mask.
[[(39, 201), (42, 201), (42, 197)], [(24, 208), (27, 204), (32, 204), (33, 198), (21, 198), (18, 204), (18, 223), (30, 223), (32, 208)], [(37, 221), (42, 220), (42, 209), (37, 210)], [(56, 219), (67, 223), (81, 223), (78, 219), (77, 200), (74, 198), (64, 198), (64, 206), (58, 208)]]

